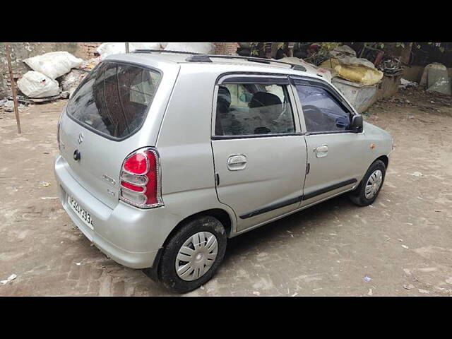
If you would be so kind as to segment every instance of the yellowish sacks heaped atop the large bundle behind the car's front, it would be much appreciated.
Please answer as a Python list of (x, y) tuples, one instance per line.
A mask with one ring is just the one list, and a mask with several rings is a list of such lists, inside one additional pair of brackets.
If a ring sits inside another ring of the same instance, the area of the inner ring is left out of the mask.
[(323, 61), (320, 66), (331, 71), (332, 76), (338, 76), (348, 81), (374, 85), (383, 78), (383, 72), (376, 69), (371, 61), (357, 58), (355, 50), (343, 45), (335, 47), (329, 53), (330, 59)]

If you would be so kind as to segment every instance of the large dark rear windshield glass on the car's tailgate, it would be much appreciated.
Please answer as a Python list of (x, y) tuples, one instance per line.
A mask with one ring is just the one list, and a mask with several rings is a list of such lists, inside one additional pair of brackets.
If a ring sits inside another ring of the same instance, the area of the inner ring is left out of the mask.
[(143, 124), (160, 78), (152, 69), (103, 61), (83, 79), (66, 112), (109, 138), (127, 138)]

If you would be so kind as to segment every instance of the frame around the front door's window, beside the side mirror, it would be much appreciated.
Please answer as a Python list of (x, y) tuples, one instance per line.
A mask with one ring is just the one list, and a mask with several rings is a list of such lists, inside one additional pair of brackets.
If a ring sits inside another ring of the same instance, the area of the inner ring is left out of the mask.
[(312, 86), (312, 87), (323, 88), (323, 90), (326, 90), (328, 92), (328, 94), (330, 94), (336, 100), (338, 105), (343, 107), (343, 109), (347, 110), (347, 112), (349, 112), (351, 114), (350, 118), (352, 118), (355, 115), (358, 115), (358, 113), (355, 111), (355, 108), (352, 107), (352, 105), (350, 105), (350, 103), (347, 102), (347, 100), (345, 100), (345, 97), (343, 97), (343, 95), (340, 94), (338, 92), (338, 90), (333, 88), (333, 86), (326, 81), (323, 81), (321, 79), (310, 78), (307, 76), (289, 76), (289, 79), (290, 79), (290, 85), (292, 87), (292, 91), (295, 95), (295, 105), (297, 105), (299, 120), (300, 120), (300, 123), (302, 124), (302, 131), (304, 132), (303, 134), (305, 136), (314, 136), (314, 135), (319, 135), (319, 134), (350, 134), (350, 133), (362, 134), (362, 133), (364, 133), (364, 126), (362, 128), (362, 131), (360, 131), (359, 133), (356, 133), (355, 131), (352, 131), (352, 130), (318, 131), (318, 132), (307, 131), (306, 122), (304, 121), (303, 106), (302, 106), (301, 100), (299, 99), (296, 85), (308, 85), (308, 86)]

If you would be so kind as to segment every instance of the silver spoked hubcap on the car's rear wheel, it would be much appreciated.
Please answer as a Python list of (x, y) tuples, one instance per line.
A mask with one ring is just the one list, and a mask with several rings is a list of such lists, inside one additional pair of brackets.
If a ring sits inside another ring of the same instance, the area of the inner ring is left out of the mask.
[(182, 244), (176, 257), (176, 272), (186, 281), (196, 280), (215, 263), (218, 242), (210, 232), (198, 232)]

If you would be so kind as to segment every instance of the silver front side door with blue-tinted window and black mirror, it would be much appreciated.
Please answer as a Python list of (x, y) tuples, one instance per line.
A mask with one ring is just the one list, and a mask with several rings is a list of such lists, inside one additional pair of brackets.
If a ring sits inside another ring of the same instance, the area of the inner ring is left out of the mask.
[[(367, 143), (363, 133), (350, 129), (355, 114), (335, 90), (323, 82), (295, 80), (306, 126), (309, 172), (302, 206), (357, 186), (365, 172), (359, 161)], [(357, 156), (358, 155), (358, 156)]]

